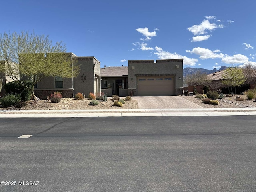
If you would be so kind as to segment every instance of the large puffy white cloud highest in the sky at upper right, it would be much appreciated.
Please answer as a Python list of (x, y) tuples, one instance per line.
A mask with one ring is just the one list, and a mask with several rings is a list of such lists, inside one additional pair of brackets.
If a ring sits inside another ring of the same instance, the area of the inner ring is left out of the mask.
[(216, 25), (215, 23), (210, 23), (209, 20), (203, 20), (200, 25), (193, 25), (189, 27), (188, 30), (194, 35), (202, 35), (207, 33), (207, 30), (212, 31), (216, 28), (223, 28), (224, 25)]

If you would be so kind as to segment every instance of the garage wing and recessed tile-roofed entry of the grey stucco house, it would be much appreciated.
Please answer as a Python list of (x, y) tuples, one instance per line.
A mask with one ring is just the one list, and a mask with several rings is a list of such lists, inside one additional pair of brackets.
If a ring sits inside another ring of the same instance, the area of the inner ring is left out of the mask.
[(108, 95), (169, 96), (183, 91), (183, 59), (128, 60), (128, 67), (105, 66), (100, 73), (102, 92)]

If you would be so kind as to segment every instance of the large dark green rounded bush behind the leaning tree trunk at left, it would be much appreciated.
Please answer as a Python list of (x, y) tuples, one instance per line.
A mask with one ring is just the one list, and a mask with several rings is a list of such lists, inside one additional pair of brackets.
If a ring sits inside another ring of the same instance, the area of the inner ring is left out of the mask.
[[(31, 81), (24, 81), (26, 86), (32, 86)], [(31, 93), (24, 85), (18, 81), (12, 81), (4, 85), (4, 89), (7, 94), (19, 94), (22, 101), (28, 101), (31, 99)]]

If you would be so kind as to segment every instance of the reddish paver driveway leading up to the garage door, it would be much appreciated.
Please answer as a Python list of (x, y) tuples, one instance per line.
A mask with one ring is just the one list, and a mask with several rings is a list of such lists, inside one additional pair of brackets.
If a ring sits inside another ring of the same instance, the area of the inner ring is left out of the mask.
[(138, 101), (140, 109), (198, 109), (203, 108), (180, 96), (132, 97)]

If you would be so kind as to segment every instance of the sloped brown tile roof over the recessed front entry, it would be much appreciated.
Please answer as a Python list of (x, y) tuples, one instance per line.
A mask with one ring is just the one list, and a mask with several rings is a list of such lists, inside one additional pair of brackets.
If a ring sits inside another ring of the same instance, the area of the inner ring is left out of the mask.
[(100, 69), (100, 76), (128, 76), (128, 67), (106, 67)]

